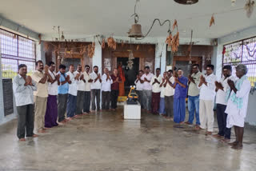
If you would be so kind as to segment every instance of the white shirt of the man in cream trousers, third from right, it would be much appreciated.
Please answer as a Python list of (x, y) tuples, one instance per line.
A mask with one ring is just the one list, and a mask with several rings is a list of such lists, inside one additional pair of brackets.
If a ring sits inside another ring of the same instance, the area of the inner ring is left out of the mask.
[(200, 96), (199, 99), (205, 101), (214, 101), (215, 97), (215, 82), (217, 80), (214, 74), (204, 75), (206, 78), (207, 85), (202, 84), (198, 89), (200, 89)]

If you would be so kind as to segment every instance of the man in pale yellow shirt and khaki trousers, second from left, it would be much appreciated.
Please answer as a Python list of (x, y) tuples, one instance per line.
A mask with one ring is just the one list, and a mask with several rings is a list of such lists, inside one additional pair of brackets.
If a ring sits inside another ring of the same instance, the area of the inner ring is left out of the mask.
[[(38, 87), (37, 91), (34, 92), (34, 112), (35, 112), (35, 122), (37, 126), (38, 133), (46, 133), (45, 128), (45, 115), (46, 115), (46, 105), (48, 97), (48, 82), (53, 82), (49, 74), (49, 67), (46, 65), (43, 67), (42, 61), (35, 63), (37, 68), (32, 74), (32, 79), (36, 82)], [(44, 72), (43, 72), (44, 71)]]

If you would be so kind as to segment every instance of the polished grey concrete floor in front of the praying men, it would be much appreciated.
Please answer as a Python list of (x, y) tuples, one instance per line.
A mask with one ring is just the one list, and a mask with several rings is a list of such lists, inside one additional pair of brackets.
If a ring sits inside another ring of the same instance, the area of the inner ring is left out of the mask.
[(204, 131), (152, 114), (123, 120), (122, 109), (78, 117), (26, 142), (15, 136), (16, 124), (0, 125), (1, 171), (256, 170), (256, 129), (250, 126), (244, 148), (234, 150)]

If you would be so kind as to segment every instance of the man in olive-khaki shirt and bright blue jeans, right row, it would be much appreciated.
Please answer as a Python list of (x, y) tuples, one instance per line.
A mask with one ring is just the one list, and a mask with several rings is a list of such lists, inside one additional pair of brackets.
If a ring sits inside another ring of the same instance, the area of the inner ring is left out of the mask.
[(199, 71), (199, 65), (192, 65), (192, 74), (189, 75), (189, 91), (188, 91), (188, 109), (189, 109), (189, 120), (186, 124), (192, 125), (194, 122), (194, 113), (196, 119), (196, 128), (199, 128), (199, 89), (198, 85), (202, 73)]

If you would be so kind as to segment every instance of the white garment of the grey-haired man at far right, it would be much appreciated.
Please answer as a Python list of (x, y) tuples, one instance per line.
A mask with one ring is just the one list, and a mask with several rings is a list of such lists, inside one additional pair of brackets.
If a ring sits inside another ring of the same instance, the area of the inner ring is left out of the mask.
[(238, 109), (237, 105), (230, 99), (227, 101), (225, 113), (227, 113), (226, 127), (231, 128), (233, 125), (243, 127), (248, 107), (248, 98), (250, 93), (250, 81), (247, 79), (242, 82), (241, 89), (237, 91), (236, 97), (242, 98), (242, 109)]

